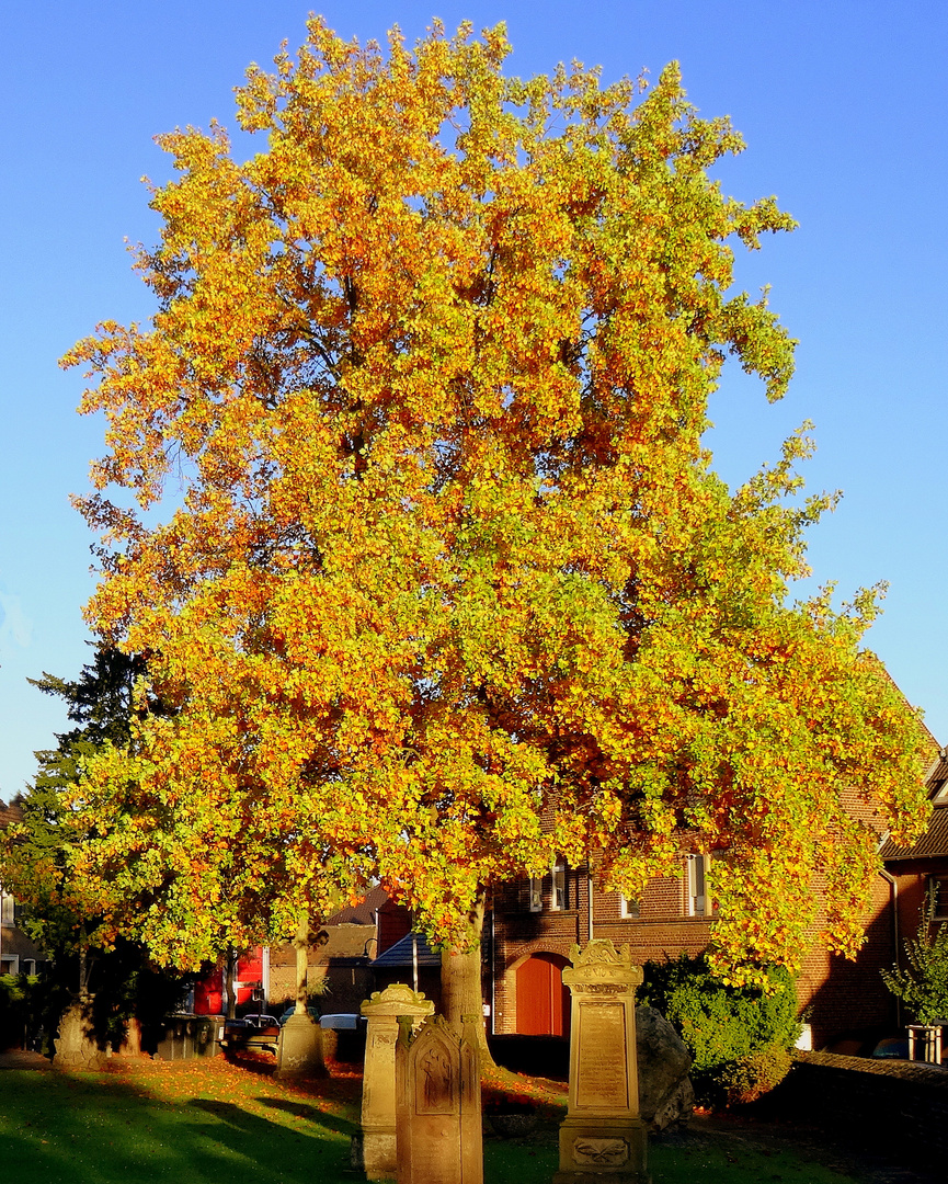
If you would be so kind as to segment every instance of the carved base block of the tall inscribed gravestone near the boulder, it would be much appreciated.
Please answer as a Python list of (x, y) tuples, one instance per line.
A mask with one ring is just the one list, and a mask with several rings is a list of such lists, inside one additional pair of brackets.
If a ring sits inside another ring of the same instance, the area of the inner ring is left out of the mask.
[(553, 1184), (650, 1184), (646, 1144), (641, 1120), (567, 1118)]

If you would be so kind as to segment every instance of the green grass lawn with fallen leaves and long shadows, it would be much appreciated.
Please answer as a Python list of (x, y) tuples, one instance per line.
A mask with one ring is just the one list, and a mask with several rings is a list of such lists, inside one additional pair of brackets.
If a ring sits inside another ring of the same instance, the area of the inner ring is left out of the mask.
[[(0, 1073), (0, 1164), (18, 1184), (342, 1184), (361, 1082), (280, 1083), (224, 1061), (123, 1073)], [(488, 1138), (486, 1184), (549, 1184), (554, 1126)], [(654, 1184), (853, 1184), (788, 1153), (656, 1143)], [(858, 1182), (856, 1182), (858, 1184)]]

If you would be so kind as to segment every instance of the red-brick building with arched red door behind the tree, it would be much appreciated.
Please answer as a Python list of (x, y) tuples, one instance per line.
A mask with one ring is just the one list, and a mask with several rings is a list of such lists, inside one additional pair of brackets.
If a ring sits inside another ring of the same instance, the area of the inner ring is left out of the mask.
[[(928, 773), (934, 813), (910, 848), (885, 841), (872, 806), (852, 793), (846, 809), (879, 832), (885, 870), (875, 877), (866, 907), (865, 944), (853, 961), (811, 946), (798, 992), (812, 1028), (814, 1048), (849, 1038), (858, 1047), (872, 1034), (901, 1023), (894, 997), (879, 973), (902, 955), (902, 939), (915, 934), (928, 901), (948, 921), (948, 755), (942, 751)], [(714, 925), (705, 894), (708, 856), (683, 856), (677, 876), (649, 883), (643, 899), (627, 901), (598, 890), (586, 867), (554, 868), (542, 880), (504, 884), (494, 893), (488, 920), (485, 1002), (495, 1032), (565, 1035), (569, 1010), (562, 969), (574, 942), (592, 937), (628, 944), (636, 961), (660, 961), (699, 953)], [(814, 892), (819, 897), (819, 883)], [(812, 937), (825, 925), (815, 918)]]

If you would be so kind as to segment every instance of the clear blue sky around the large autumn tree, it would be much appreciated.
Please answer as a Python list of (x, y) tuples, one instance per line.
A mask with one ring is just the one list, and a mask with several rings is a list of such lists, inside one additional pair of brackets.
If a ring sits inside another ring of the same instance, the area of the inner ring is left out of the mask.
[[(886, 579), (870, 644), (948, 741), (948, 4), (944, 0), (547, 0), (323, 2), (340, 33), (409, 40), (507, 20), (509, 69), (579, 58), (606, 79), (681, 60), (694, 103), (728, 114), (748, 150), (718, 175), (735, 197), (775, 193), (800, 221), (741, 263), (800, 339), (791, 393), (768, 406), (731, 375), (709, 440), (731, 483), (774, 458), (804, 419), (812, 489), (841, 488), (811, 536), (817, 580)], [(303, 39), (290, 0), (6, 0), (0, 14), (0, 797), (33, 774), (64, 719), (28, 687), (88, 659), (80, 606), (89, 535), (70, 508), (102, 449), (58, 356), (103, 318), (151, 302), (123, 239), (151, 243), (140, 178), (168, 175), (151, 137), (233, 126), (232, 88)]]

